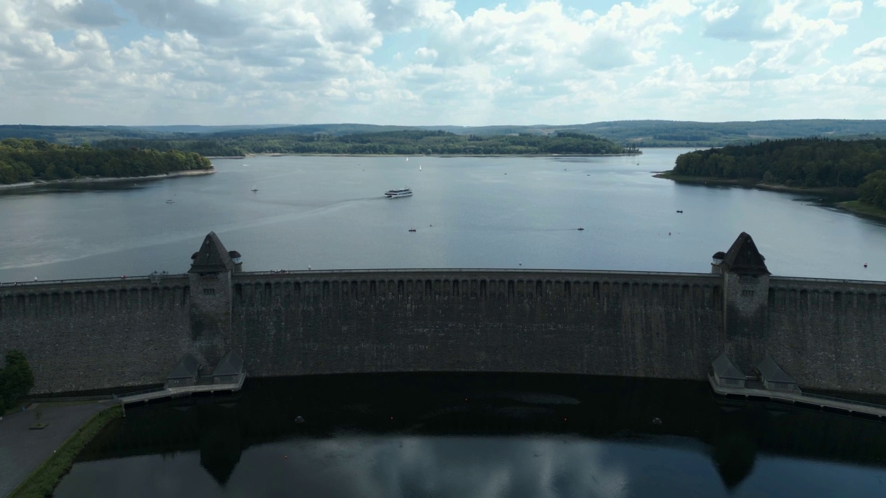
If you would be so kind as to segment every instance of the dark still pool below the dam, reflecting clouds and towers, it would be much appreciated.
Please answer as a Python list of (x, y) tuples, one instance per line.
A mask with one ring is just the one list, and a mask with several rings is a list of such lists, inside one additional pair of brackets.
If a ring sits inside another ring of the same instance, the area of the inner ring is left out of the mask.
[[(130, 410), (84, 450), (56, 495), (779, 496), (803, 489), (826, 496), (846, 486), (854, 496), (886, 494), (886, 424), (721, 406), (703, 383), (304, 377), (252, 379), (223, 401)], [(652, 424), (655, 417), (662, 424)]]

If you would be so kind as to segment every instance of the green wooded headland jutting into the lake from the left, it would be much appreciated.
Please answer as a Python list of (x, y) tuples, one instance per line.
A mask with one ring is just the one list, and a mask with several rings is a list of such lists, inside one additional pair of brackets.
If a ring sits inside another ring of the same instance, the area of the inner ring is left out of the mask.
[(89, 145), (74, 147), (16, 138), (0, 141), (0, 184), (81, 176), (160, 175), (212, 167), (209, 160), (194, 152), (103, 150)]

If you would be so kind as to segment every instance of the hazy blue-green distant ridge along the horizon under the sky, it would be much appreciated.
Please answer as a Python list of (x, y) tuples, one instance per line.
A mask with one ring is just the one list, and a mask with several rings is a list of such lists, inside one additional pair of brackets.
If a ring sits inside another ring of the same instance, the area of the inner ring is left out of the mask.
[(769, 120), (769, 121), (599, 121), (571, 125), (396, 126), (361, 123), (266, 125), (168, 126), (35, 126), (0, 125), (0, 139), (35, 138), (61, 144), (81, 144), (108, 138), (206, 139), (212, 136), (331, 135), (346, 136), (398, 130), (442, 130), (457, 135), (549, 135), (556, 132), (587, 133), (621, 144), (640, 147), (711, 147), (750, 144), (766, 139), (886, 137), (886, 120)]

